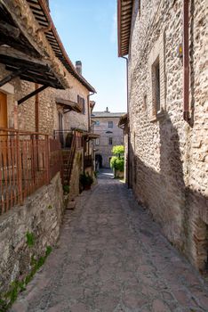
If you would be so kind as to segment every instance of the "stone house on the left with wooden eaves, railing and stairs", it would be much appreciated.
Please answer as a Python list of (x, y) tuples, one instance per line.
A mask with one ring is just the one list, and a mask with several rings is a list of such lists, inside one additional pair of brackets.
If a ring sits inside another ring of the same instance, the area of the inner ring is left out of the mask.
[(2, 0), (0, 38), (2, 310), (9, 300), (4, 294), (25, 283), (32, 262), (44, 259), (59, 237), (66, 200), (62, 160), (70, 198), (79, 192), (80, 173), (92, 171), (95, 90), (82, 76), (81, 62), (74, 66), (68, 58), (48, 1)]

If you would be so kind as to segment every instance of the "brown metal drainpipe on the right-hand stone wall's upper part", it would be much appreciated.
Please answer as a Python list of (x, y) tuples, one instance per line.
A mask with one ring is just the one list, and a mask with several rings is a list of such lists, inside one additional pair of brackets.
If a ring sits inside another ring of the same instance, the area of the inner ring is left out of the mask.
[(183, 119), (189, 119), (189, 0), (183, 1)]

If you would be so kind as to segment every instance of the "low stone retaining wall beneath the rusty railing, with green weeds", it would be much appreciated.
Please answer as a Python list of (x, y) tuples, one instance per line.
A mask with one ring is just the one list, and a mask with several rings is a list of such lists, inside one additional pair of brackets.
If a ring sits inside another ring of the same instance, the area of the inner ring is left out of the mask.
[[(0, 293), (31, 271), (31, 260), (40, 259), (54, 246), (63, 214), (60, 174), (28, 197), (23, 206), (12, 208), (0, 217)], [(28, 242), (27, 234), (34, 243)]]

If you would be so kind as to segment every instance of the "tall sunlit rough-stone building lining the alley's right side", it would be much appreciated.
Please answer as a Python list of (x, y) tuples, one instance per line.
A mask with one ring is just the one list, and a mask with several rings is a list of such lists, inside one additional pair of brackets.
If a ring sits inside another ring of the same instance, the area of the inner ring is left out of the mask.
[(128, 54), (128, 184), (166, 237), (203, 272), (208, 262), (208, 3), (117, 4), (118, 54)]

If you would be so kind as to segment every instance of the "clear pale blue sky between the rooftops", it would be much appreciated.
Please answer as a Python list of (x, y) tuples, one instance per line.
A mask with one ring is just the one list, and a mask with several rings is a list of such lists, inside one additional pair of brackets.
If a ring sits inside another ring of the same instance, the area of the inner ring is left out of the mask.
[(126, 111), (125, 61), (117, 57), (116, 0), (50, 0), (52, 20), (72, 62), (97, 91), (94, 111)]

